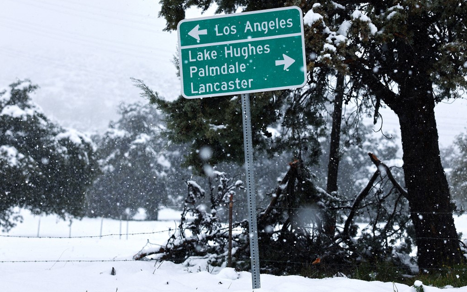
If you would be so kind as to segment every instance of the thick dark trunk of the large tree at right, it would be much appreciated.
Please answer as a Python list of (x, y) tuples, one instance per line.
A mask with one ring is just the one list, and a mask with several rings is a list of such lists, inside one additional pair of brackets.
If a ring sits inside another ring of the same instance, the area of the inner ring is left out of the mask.
[(462, 255), (449, 186), (439, 157), (431, 87), (418, 90), (413, 87), (410, 96), (403, 96), (401, 91), (400, 97), (399, 105), (392, 108), (400, 122), (405, 186), (415, 227), (418, 265), (427, 272), (458, 264)]

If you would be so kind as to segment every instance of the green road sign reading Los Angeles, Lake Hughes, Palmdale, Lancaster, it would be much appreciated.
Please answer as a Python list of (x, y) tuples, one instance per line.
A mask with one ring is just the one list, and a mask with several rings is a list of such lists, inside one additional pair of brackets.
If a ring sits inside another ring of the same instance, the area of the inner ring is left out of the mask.
[(185, 19), (177, 31), (186, 98), (297, 88), (306, 82), (299, 7)]

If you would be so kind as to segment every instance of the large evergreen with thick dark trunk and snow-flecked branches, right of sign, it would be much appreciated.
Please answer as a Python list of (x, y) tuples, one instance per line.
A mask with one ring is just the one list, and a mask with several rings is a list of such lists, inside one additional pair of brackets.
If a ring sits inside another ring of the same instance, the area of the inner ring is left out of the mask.
[[(467, 5), (462, 0), (163, 0), (160, 15), (167, 20), (166, 30), (174, 30), (188, 7), (207, 9), (214, 3), (217, 12), (227, 13), (239, 7), (251, 11), (300, 6), (305, 12), (310, 89), (304, 88), (292, 100), (316, 102), (327, 83), (326, 76), (334, 70), (348, 78), (348, 96), (359, 98), (367, 108), (374, 106), (375, 117), (381, 106), (394, 110), (400, 120), (418, 263), (427, 270), (459, 263), (462, 256), (449, 186), (439, 159), (434, 106), (458, 97), (459, 89), (467, 87)], [(208, 104), (201, 103), (207, 111)], [(300, 118), (308, 116), (300, 115), (300, 107), (290, 109), (298, 109), (295, 113)], [(267, 128), (270, 120), (264, 120), (261, 127)], [(292, 116), (284, 121), (294, 123)], [(309, 149), (314, 146), (312, 141), (307, 141)]]

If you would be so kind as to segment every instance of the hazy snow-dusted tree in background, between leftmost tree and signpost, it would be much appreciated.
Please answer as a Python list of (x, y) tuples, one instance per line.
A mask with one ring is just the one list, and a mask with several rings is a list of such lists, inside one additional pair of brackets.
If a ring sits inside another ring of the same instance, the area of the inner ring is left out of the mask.
[(161, 134), (164, 123), (154, 106), (121, 104), (119, 114), (98, 138), (101, 174), (88, 195), (90, 215), (126, 218), (141, 207), (156, 220), (159, 206), (168, 202), (171, 159), (179, 152)]

